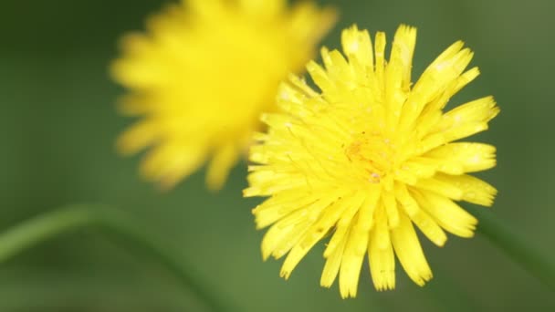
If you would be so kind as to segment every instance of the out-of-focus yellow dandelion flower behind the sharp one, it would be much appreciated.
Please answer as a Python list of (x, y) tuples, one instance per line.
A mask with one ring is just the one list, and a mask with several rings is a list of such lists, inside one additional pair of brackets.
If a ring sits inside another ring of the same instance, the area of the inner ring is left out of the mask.
[(274, 110), (279, 82), (302, 69), (335, 19), (311, 2), (183, 0), (123, 40), (114, 78), (130, 94), (121, 110), (141, 116), (118, 141), (132, 154), (152, 146), (141, 173), (171, 187), (210, 158), (217, 189)]

